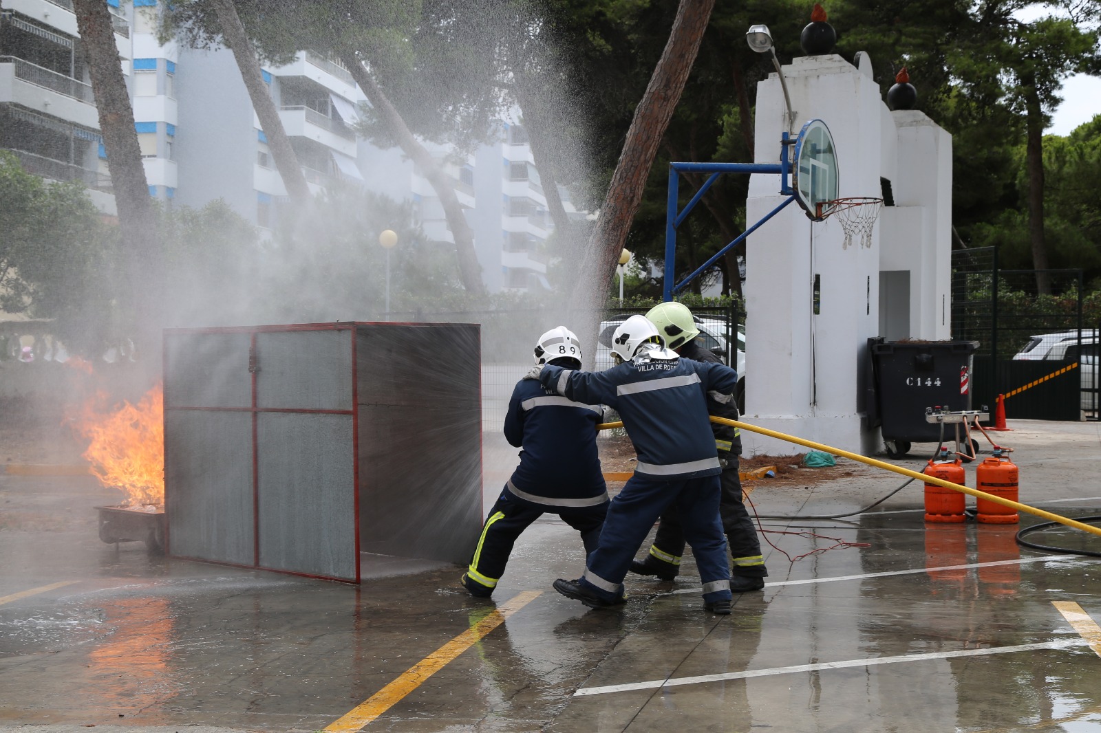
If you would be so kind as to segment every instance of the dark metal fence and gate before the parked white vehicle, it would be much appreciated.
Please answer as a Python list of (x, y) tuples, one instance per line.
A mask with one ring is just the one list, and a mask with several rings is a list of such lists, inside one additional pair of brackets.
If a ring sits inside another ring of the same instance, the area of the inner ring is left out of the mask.
[[(1037, 295), (1037, 276), (1050, 295)], [(1098, 340), (1081, 270), (1003, 270), (996, 248), (952, 253), (952, 338), (978, 341), (973, 405), (1007, 417), (1098, 418)]]

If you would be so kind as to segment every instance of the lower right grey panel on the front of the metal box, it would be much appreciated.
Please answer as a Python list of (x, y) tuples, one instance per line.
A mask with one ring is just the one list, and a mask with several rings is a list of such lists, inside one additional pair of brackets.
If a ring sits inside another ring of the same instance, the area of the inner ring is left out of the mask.
[(353, 446), (351, 415), (258, 416), (261, 567), (357, 579)]

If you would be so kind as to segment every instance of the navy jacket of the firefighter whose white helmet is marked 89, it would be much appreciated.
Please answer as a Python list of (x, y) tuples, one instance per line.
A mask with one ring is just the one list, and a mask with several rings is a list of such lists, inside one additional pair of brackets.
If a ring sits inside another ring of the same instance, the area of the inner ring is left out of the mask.
[(533, 494), (566, 500), (567, 506), (598, 503), (569, 500), (607, 495), (597, 455), (597, 425), (602, 416), (599, 402), (579, 404), (544, 390), (535, 380), (520, 380), (504, 416), (505, 439), (523, 447), (510, 490), (521, 499)]

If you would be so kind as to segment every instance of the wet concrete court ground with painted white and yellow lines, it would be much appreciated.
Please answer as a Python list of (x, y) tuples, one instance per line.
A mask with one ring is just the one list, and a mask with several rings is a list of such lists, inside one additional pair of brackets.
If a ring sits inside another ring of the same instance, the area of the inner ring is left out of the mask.
[[(1101, 514), (1099, 424), (1010, 426), (1021, 501)], [(751, 497), (838, 514), (902, 481)], [(478, 600), (438, 564), (367, 558), (356, 588), (150, 557), (98, 539), (90, 507), (117, 501), (0, 475), (0, 731), (1101, 731), (1101, 560), (1021, 547), (1015, 525), (927, 525), (917, 483), (859, 515), (762, 521), (768, 584), (729, 616), (701, 610), (690, 559), (676, 582), (629, 577), (620, 610), (558, 595), (582, 553), (557, 517)]]

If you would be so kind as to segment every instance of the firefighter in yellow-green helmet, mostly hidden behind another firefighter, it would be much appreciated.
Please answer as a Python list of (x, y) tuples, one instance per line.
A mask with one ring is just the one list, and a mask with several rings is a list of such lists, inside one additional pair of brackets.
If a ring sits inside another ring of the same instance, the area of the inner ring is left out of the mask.
[[(720, 359), (697, 340), (699, 329), (691, 311), (683, 303), (662, 303), (646, 314), (646, 318), (665, 337), (669, 348), (685, 359), (718, 362)], [(708, 395), (707, 412), (716, 417), (739, 418), (738, 404), (733, 401), (716, 401)], [(761, 555), (753, 519), (742, 502), (742, 482), (738, 477), (738, 457), (742, 452), (741, 431), (729, 425), (711, 424), (715, 447), (722, 464), (719, 481), (722, 494), (719, 501), (719, 516), (733, 567), (730, 569), (730, 590), (744, 593), (764, 588), (768, 571)], [(631, 562), (631, 572), (656, 576), (659, 580), (673, 580), (680, 571), (680, 556), (684, 555), (685, 538), (676, 511), (666, 512), (657, 525), (654, 544), (642, 560)]]

